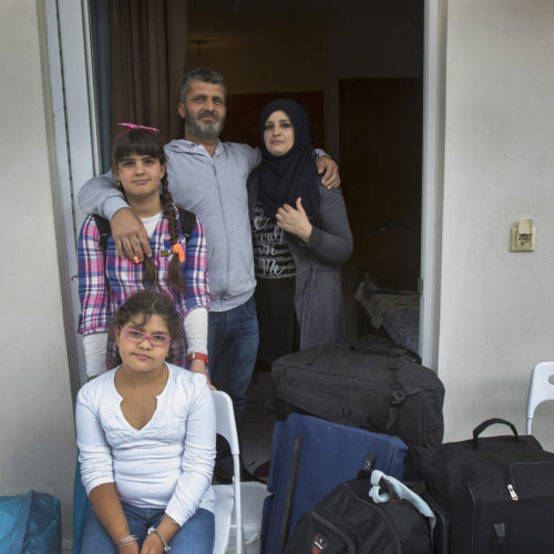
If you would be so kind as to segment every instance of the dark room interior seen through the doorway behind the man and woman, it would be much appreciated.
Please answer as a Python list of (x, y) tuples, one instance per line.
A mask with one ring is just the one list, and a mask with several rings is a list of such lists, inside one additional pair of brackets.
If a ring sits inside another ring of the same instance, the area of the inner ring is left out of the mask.
[(322, 101), (321, 115), (309, 113), (312, 142), (339, 163), (355, 235), (343, 267), (348, 337), (361, 332), (355, 293), (366, 273), (418, 289), (423, 11), (423, 0), (188, 2), (186, 69), (225, 76), (224, 140), (257, 145), (261, 100)]

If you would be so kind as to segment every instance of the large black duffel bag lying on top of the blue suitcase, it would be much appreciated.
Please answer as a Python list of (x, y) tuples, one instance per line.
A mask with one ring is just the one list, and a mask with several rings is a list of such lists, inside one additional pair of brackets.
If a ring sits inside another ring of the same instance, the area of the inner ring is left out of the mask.
[(278, 413), (301, 411), (345, 425), (440, 444), (444, 387), (407, 349), (377, 336), (283, 356), (271, 366)]

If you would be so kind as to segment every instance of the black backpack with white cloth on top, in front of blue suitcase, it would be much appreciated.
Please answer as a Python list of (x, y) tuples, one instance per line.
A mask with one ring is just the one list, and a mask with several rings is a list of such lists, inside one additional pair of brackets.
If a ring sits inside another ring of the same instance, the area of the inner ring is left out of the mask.
[(370, 495), (371, 472), (363, 473), (300, 516), (284, 554), (433, 554), (429, 506), (381, 472), (372, 473)]

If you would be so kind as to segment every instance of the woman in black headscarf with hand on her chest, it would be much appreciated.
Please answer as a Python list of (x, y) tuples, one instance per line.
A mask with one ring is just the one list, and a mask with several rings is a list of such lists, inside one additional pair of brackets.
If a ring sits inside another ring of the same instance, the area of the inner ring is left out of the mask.
[(314, 164), (308, 116), (293, 100), (267, 104), (259, 124), (261, 164), (248, 183), (257, 279), (258, 360), (342, 338), (340, 265), (352, 235), (339, 188)]

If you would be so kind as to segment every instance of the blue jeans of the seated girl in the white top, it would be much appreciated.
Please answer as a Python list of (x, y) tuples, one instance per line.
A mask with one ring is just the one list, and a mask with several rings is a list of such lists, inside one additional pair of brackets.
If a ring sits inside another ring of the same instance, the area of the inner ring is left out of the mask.
[[(121, 503), (127, 519), (132, 535), (138, 536), (142, 546), (150, 527), (156, 527), (164, 510), (135, 507)], [(171, 541), (172, 554), (209, 554), (214, 550), (215, 520), (214, 514), (199, 507), (181, 527)], [(117, 554), (117, 548), (106, 533), (95, 512), (89, 516), (81, 541), (81, 554)]]

